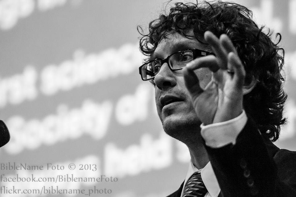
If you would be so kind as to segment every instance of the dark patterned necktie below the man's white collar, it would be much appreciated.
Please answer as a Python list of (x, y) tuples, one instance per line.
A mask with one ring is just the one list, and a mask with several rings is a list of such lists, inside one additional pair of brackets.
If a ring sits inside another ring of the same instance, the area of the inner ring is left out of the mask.
[(195, 172), (185, 185), (183, 197), (203, 197), (207, 192), (200, 172)]

